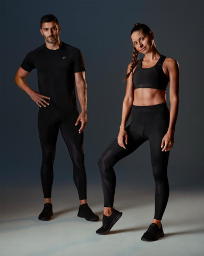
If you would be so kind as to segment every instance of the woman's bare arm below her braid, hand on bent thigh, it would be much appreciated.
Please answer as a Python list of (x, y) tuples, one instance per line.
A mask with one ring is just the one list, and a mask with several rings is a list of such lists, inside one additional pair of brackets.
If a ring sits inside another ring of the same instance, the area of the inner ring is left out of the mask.
[[(128, 66), (127, 74), (130, 72), (130, 66), (131, 66), (131, 63)], [(117, 137), (118, 144), (121, 147), (123, 147), (124, 149), (126, 149), (125, 144), (126, 145), (128, 144), (128, 134), (125, 130), (125, 125), (128, 122), (128, 119), (130, 117), (133, 101), (134, 101), (134, 90), (133, 90), (132, 73), (131, 73), (128, 78), (128, 81), (127, 81), (125, 98), (123, 100), (123, 110), (122, 110), (122, 120), (121, 120), (120, 132)]]

